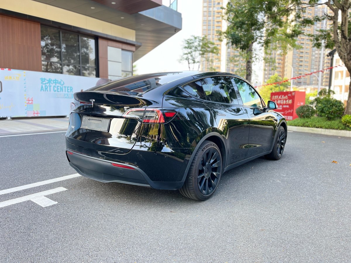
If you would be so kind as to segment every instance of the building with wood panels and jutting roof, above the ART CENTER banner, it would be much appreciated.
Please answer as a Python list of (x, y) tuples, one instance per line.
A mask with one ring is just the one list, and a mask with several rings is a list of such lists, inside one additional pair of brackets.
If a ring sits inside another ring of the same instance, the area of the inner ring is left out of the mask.
[(0, 68), (104, 79), (181, 29), (162, 0), (1, 0)]

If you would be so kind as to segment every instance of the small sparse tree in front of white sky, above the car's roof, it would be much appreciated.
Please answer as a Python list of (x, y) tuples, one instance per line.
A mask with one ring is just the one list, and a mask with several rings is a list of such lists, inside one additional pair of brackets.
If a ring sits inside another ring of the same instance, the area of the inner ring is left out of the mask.
[[(207, 39), (207, 36), (194, 36), (185, 39), (183, 43), (183, 55), (180, 61), (188, 62), (188, 68), (194, 67), (198, 64), (198, 70), (200, 69), (201, 59), (206, 59), (208, 54), (218, 54), (219, 48), (214, 45), (214, 43)], [(208, 59), (207, 59), (208, 60)]]

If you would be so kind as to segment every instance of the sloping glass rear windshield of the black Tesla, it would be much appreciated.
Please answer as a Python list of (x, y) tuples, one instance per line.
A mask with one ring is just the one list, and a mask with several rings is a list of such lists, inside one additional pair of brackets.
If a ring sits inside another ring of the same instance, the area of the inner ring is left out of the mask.
[(183, 75), (177, 73), (157, 73), (126, 77), (120, 80), (110, 81), (99, 86), (87, 89), (87, 91), (108, 91), (126, 93), (145, 93), (173, 80), (180, 79)]

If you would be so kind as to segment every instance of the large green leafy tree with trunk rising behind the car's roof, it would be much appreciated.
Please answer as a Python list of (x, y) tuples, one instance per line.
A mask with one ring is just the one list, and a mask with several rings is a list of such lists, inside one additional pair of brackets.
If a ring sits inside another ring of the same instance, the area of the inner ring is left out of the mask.
[[(230, 44), (245, 54), (246, 80), (251, 82), (252, 63), (256, 58), (254, 43), (265, 50), (286, 50), (295, 46), (301, 33), (289, 0), (229, 0), (224, 8), (226, 31), (220, 32)], [(269, 47), (269, 49), (268, 49)]]

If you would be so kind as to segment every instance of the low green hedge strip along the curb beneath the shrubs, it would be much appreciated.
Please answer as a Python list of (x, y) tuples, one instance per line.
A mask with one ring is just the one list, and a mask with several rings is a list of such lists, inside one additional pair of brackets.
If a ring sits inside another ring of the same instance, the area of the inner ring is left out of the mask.
[(325, 117), (311, 117), (308, 119), (297, 118), (292, 121), (287, 121), (287, 125), (333, 130), (351, 130), (351, 127), (345, 126), (341, 122), (341, 119), (328, 121)]

